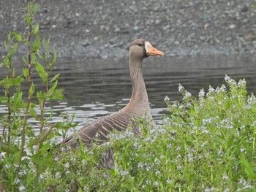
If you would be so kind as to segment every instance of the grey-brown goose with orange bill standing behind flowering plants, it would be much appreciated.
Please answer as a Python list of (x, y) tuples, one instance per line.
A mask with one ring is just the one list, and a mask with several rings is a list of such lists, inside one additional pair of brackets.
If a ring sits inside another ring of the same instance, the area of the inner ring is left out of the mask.
[(152, 115), (142, 72), (143, 59), (151, 55), (164, 55), (164, 53), (157, 50), (145, 39), (136, 39), (131, 43), (129, 46), (129, 73), (132, 80), (132, 96), (129, 103), (118, 112), (83, 126), (78, 130), (78, 137), (70, 136), (64, 141), (64, 146), (77, 147), (78, 139), (87, 147), (90, 147), (93, 142), (100, 145), (108, 139), (108, 134), (113, 129), (125, 131), (127, 126), (133, 123), (133, 118), (146, 116), (146, 120), (151, 122)]

